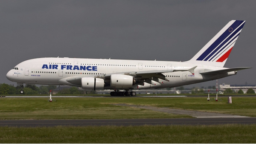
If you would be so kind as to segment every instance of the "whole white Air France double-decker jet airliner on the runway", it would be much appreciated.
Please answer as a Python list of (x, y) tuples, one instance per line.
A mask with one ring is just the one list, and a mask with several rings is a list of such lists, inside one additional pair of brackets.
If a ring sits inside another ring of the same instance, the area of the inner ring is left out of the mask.
[[(19, 63), (6, 77), (18, 85), (70, 85), (84, 90), (113, 89), (111, 96), (135, 96), (136, 89), (173, 88), (232, 76), (243, 68), (223, 68), (244, 26), (231, 20), (186, 62), (37, 58)], [(20, 90), (20, 93), (23, 93)]]

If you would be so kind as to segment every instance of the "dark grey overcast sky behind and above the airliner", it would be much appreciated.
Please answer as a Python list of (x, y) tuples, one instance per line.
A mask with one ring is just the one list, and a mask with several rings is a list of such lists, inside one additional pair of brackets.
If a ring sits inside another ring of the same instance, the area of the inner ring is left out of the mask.
[(38, 57), (186, 61), (230, 20), (246, 20), (224, 67), (254, 68), (218, 83), (256, 84), (255, 6), (255, 0), (1, 0), (0, 83), (16, 85), (6, 73)]

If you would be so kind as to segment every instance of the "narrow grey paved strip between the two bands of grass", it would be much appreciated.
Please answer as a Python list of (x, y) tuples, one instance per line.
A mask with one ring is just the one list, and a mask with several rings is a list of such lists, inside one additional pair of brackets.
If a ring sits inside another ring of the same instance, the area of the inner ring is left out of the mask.
[(0, 120), (0, 126), (9, 127), (54, 127), (54, 126), (139, 126), (139, 125), (211, 125), (211, 124), (256, 124), (252, 118), (197, 118), (197, 119), (78, 119), (78, 120)]

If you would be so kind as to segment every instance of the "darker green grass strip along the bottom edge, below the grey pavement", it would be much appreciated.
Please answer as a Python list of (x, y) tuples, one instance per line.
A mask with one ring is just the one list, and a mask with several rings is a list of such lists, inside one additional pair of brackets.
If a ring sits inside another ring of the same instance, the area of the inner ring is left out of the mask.
[(0, 127), (1, 143), (256, 143), (256, 124)]

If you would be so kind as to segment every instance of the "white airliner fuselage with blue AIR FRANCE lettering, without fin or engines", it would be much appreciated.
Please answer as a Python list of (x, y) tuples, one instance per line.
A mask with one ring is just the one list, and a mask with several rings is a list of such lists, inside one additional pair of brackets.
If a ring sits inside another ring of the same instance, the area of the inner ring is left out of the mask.
[[(198, 65), (189, 62), (148, 61), (148, 60), (121, 60), (121, 59), (76, 59), (76, 58), (37, 58), (21, 62), (16, 69), (10, 70), (6, 77), (17, 83), (41, 85), (73, 85), (63, 82), (70, 77), (94, 77), (111, 73), (129, 73), (140, 71), (182, 70), (195, 67), (192, 74), (189, 71), (175, 71), (162, 73), (167, 80), (152, 79), (151, 82), (136, 84), (133, 89), (144, 88), (172, 88), (220, 79), (234, 75), (229, 72), (218, 75), (203, 76), (200, 72), (216, 71), (226, 68)], [(140, 79), (143, 79), (140, 78)], [(74, 85), (79, 86), (79, 85)], [(105, 88), (111, 89), (110, 86)], [(114, 88), (112, 88), (114, 89)]]

